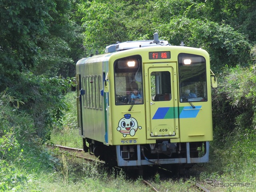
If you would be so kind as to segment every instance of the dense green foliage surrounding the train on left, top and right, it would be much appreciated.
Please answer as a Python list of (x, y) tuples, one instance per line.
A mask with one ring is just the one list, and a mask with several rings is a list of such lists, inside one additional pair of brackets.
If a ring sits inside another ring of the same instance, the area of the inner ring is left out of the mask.
[(152, 39), (154, 32), (209, 52), (219, 81), (212, 91), (214, 142), (232, 146), (230, 159), (252, 160), (255, 23), (255, 0), (0, 1), (0, 191), (27, 182), (27, 168), (58, 164), (41, 144), (62, 126), (76, 61), (118, 41)]

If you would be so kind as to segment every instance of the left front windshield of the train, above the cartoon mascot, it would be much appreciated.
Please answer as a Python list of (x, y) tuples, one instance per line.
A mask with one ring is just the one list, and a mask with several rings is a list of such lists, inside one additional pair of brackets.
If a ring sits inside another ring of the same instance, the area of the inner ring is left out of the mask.
[(114, 62), (116, 105), (143, 104), (142, 60), (139, 55)]

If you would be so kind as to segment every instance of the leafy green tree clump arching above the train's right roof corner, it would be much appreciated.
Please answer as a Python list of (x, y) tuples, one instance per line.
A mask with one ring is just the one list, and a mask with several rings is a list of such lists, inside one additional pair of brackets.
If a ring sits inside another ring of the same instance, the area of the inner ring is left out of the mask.
[(248, 66), (251, 63), (248, 39), (230, 26), (177, 16), (162, 25), (159, 32), (171, 44), (179, 45), (184, 41), (187, 46), (208, 51), (215, 72), (226, 65)]

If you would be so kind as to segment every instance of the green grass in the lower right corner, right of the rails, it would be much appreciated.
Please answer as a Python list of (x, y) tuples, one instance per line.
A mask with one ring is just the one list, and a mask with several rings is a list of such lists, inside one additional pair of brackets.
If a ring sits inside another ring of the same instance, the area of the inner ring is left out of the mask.
[[(204, 182), (206, 188), (212, 192), (256, 191), (255, 136), (236, 135), (224, 142), (215, 141), (210, 150), (210, 162), (204, 166), (199, 178), (201, 181), (211, 179), (226, 187), (212, 187)], [(241, 186), (246, 183), (250, 186)]]

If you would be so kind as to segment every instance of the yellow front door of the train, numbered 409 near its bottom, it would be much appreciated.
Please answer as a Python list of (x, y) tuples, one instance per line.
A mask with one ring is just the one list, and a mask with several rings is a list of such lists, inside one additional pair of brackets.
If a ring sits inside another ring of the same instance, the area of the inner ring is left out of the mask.
[(147, 128), (149, 138), (178, 137), (176, 64), (146, 64)]

